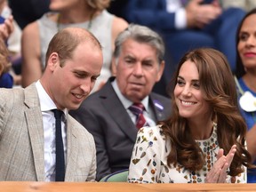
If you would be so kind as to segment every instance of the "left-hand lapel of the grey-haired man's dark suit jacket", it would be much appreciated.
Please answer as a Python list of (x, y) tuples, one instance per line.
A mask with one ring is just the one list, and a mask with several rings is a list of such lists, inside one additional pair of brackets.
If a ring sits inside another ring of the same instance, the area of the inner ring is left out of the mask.
[[(110, 91), (109, 91), (110, 90)], [(114, 119), (120, 129), (135, 142), (138, 129), (132, 123), (131, 117), (127, 114), (126, 109), (123, 107), (122, 102), (118, 99), (116, 92), (114, 91), (110, 81), (104, 86), (100, 92), (100, 100), (104, 108), (110, 116)]]

